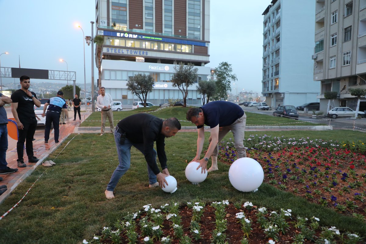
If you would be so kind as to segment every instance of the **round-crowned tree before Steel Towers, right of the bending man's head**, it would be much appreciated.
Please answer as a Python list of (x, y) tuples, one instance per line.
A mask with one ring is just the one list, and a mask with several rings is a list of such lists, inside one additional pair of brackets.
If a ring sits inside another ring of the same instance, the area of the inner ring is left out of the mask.
[(194, 68), (194, 65), (189, 63), (184, 65), (182, 62), (179, 65), (174, 66), (175, 74), (172, 77), (172, 86), (178, 87), (183, 94), (183, 107), (187, 106), (188, 87), (193, 85), (197, 79), (198, 68)]

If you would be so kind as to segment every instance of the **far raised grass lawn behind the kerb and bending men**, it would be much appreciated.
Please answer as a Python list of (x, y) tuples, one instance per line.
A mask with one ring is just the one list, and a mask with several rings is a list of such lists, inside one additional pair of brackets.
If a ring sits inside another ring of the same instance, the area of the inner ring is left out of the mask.
[[(114, 123), (118, 123), (120, 120), (124, 119), (125, 117), (128, 117), (130, 115), (133, 115), (135, 113), (141, 113), (141, 112), (147, 112), (147, 111), (154, 111), (156, 110), (157, 107), (154, 108), (138, 108), (138, 109), (134, 109), (134, 110), (128, 110), (128, 111), (120, 111), (120, 112), (113, 112), (113, 120), (115, 121)], [(169, 117), (176, 117), (178, 120), (183, 120), (181, 121), (181, 125), (182, 126), (194, 126), (192, 125), (191, 122), (185, 122), (186, 119), (186, 113), (187, 110), (189, 108), (182, 108), (180, 106), (177, 107), (169, 107), (169, 108), (164, 108), (161, 110), (158, 110), (156, 112), (150, 112), (150, 114), (162, 118), (162, 119), (167, 119)], [(310, 123), (310, 122), (305, 122), (305, 123), (298, 123), (300, 122), (300, 120), (294, 120), (294, 119), (288, 119), (288, 118), (282, 118), (282, 117), (273, 117), (270, 115), (262, 115), (262, 114), (258, 114), (258, 113), (251, 113), (251, 112), (246, 112), (247, 115), (247, 125), (277, 125), (277, 124), (281, 124), (281, 125), (324, 125), (324, 124), (314, 124), (314, 123)], [(94, 121), (92, 121), (94, 120)], [(81, 123), (81, 126), (85, 126), (85, 127), (98, 127), (100, 126), (100, 112), (94, 112), (92, 113), (87, 119), (86, 121), (83, 121)], [(108, 119), (107, 119), (107, 124), (109, 124)], [(108, 125), (106, 125), (108, 126)]]

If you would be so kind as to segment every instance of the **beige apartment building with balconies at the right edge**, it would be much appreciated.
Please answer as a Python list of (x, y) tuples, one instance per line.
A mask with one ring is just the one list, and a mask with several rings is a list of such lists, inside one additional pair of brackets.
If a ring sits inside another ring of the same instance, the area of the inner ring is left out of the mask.
[[(315, 0), (314, 80), (321, 83), (320, 109), (326, 91), (336, 91), (332, 106), (356, 108), (348, 89), (366, 88), (366, 0)], [(366, 109), (362, 98), (360, 110)]]

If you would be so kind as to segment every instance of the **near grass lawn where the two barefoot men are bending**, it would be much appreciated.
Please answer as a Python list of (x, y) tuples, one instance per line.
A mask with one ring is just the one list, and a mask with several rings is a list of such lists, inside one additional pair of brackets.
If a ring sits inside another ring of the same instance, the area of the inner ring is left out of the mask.
[[(246, 138), (250, 134), (253, 133), (247, 132)], [(356, 140), (361, 138), (358, 134), (363, 135), (353, 131), (267, 131), (261, 134), (332, 140)], [(224, 139), (231, 136), (229, 133)], [(204, 150), (208, 146), (208, 137), (209, 133), (206, 133)], [(219, 163), (219, 170), (210, 173), (200, 185), (190, 184), (184, 169), (186, 161), (191, 161), (195, 155), (196, 140), (195, 132), (178, 133), (165, 140), (169, 172), (178, 181), (178, 190), (174, 194), (167, 194), (160, 188), (148, 188), (146, 161), (137, 149), (132, 148), (131, 168), (120, 179), (115, 189), (116, 198), (107, 200), (104, 191), (118, 164), (113, 135), (106, 134), (102, 138), (97, 134), (70, 135), (48, 158), (53, 160), (58, 155), (54, 160), (56, 166), (39, 166), (0, 205), (3, 214), (44, 173), (19, 206), (0, 221), (0, 243), (80, 243), (83, 239), (93, 238), (103, 226), (113, 226), (124, 214), (140, 210), (145, 204), (160, 206), (170, 201), (184, 203), (193, 199), (204, 202), (250, 201), (258, 207), (292, 209), (293, 216), (303, 215), (309, 219), (315, 216), (321, 219), (321, 225), (366, 236), (365, 222), (309, 203), (271, 185), (262, 184), (256, 193), (236, 191), (229, 182), (229, 166), (225, 164)]]

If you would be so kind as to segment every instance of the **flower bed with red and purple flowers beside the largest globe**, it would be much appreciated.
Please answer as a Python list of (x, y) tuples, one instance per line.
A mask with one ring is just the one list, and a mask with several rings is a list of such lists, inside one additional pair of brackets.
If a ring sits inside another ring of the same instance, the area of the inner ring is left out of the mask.
[[(366, 157), (356, 152), (363, 150), (364, 143), (263, 138), (250, 136), (247, 144), (253, 147), (247, 151), (247, 157), (262, 165), (264, 182), (365, 220)], [(220, 147), (220, 161), (235, 161), (231, 140), (221, 142)]]

